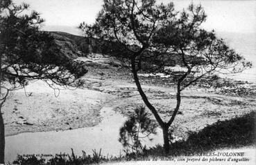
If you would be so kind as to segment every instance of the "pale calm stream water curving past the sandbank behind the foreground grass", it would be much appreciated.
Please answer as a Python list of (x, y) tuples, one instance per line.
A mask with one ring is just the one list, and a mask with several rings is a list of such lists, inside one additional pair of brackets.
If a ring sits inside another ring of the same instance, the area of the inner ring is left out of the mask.
[[(49, 131), (37, 133), (20, 133), (6, 137), (6, 162), (12, 162), (19, 155), (44, 155), (47, 159), (49, 155), (60, 153), (71, 153), (74, 149), (75, 155), (82, 155), (85, 151), (87, 155), (92, 155), (93, 149), (100, 151), (104, 156), (123, 154), (123, 146), (118, 141), (119, 128), (123, 126), (126, 117), (114, 112), (112, 107), (101, 108), (103, 120), (93, 127), (78, 128), (65, 131)], [(160, 132), (158, 130), (157, 132)], [(145, 141), (146, 146), (162, 144), (162, 135), (153, 135), (153, 141)], [(51, 158), (51, 157), (49, 157)]]

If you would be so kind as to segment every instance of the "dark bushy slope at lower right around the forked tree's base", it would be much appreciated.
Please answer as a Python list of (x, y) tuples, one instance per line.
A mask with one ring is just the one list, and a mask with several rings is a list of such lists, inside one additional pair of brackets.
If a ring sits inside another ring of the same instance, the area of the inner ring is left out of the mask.
[[(201, 153), (221, 148), (239, 148), (255, 146), (256, 113), (251, 112), (242, 117), (218, 121), (206, 126), (198, 133), (190, 132), (185, 141), (171, 144), (170, 156), (186, 155), (189, 151)], [(143, 156), (162, 156), (162, 146), (151, 148)]]

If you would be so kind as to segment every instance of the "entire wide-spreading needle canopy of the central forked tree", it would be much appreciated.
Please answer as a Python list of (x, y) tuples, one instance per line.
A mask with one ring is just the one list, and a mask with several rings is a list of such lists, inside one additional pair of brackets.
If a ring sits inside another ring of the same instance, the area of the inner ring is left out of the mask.
[(86, 37), (105, 41), (99, 44), (101, 52), (128, 64), (135, 57), (138, 70), (147, 64), (157, 69), (176, 64), (185, 66), (181, 48), (188, 63), (193, 62), (200, 68), (207, 66), (208, 73), (213, 70), (240, 72), (250, 66), (244, 57), (217, 39), (214, 31), (200, 28), (205, 20), (203, 8), (193, 4), (187, 10), (176, 12), (173, 3), (156, 5), (153, 0), (106, 0), (96, 23), (92, 26), (81, 23), (80, 29)]

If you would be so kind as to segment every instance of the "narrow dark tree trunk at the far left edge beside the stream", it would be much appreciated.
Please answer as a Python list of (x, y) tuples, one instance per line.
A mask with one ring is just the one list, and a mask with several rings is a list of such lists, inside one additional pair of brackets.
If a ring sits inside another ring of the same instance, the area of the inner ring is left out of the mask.
[(4, 124), (3, 115), (0, 110), (0, 164), (4, 164), (4, 148), (5, 148), (5, 137), (4, 137)]

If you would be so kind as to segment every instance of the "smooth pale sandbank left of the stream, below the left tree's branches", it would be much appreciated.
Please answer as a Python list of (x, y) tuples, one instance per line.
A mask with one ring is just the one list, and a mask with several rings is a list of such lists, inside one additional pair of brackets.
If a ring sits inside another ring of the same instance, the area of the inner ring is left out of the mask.
[(95, 90), (54, 90), (41, 81), (29, 84), (26, 93), (17, 90), (6, 101), (3, 117), (6, 135), (24, 132), (68, 130), (95, 126), (101, 121), (100, 109), (112, 95)]

